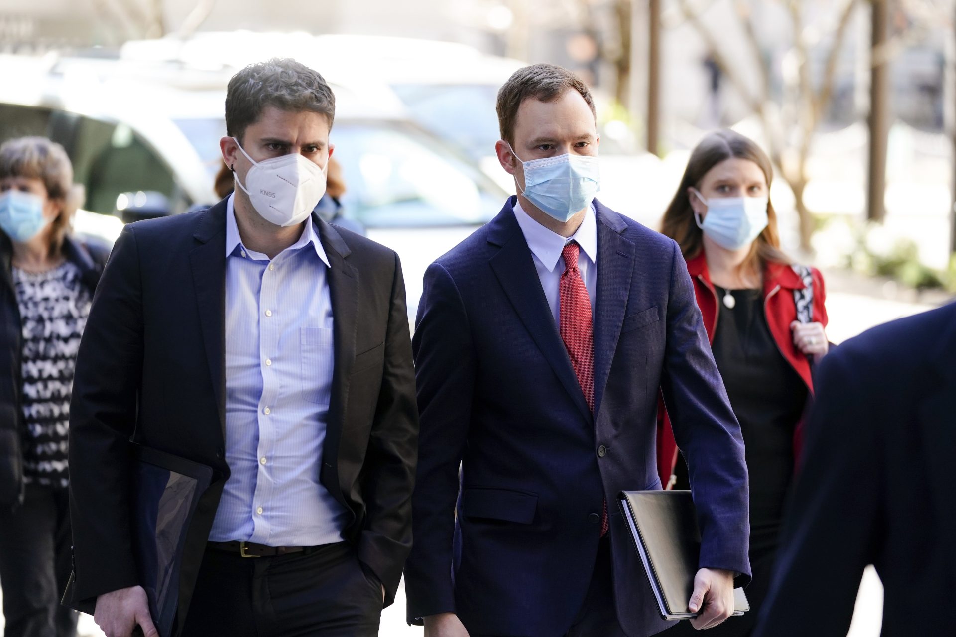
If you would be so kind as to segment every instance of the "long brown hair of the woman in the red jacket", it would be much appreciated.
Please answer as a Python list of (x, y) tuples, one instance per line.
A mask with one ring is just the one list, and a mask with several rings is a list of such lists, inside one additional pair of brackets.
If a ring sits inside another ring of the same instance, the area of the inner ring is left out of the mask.
[[(663, 214), (661, 232), (681, 246), (684, 259), (691, 260), (704, 250), (704, 232), (694, 219), (694, 209), (690, 206), (689, 188), (700, 188), (701, 180), (710, 169), (727, 159), (747, 159), (760, 166), (767, 178), (768, 196), (773, 180), (773, 166), (767, 153), (752, 139), (745, 138), (731, 130), (721, 130), (704, 138), (687, 161), (684, 178)], [(741, 269), (754, 269), (762, 272), (767, 264), (791, 265), (793, 262), (780, 249), (780, 234), (777, 231), (776, 211), (773, 203), (767, 205), (767, 217), (770, 220), (750, 248), (750, 254)]]

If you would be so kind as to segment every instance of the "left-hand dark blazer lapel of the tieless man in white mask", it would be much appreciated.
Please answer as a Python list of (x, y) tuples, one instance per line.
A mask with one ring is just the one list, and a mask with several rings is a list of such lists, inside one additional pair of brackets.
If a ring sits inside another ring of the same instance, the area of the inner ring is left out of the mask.
[(189, 253), (196, 288), (199, 322), (206, 361), (226, 439), (226, 202), (209, 208), (200, 218), (194, 238), (200, 243)]

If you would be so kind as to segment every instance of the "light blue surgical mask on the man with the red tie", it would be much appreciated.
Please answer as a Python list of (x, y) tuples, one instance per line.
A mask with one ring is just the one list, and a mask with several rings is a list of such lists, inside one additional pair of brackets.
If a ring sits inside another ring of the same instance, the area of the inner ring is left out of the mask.
[(541, 212), (566, 223), (595, 198), (600, 188), (596, 157), (565, 154), (524, 161), (511, 144), (508, 148), (525, 169), (521, 194)]

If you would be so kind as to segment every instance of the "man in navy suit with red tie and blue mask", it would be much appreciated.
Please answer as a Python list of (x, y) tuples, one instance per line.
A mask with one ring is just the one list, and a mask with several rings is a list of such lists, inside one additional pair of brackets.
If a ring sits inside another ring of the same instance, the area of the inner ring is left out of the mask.
[(520, 196), (424, 276), (408, 621), (456, 637), (669, 626), (616, 502), (661, 488), (663, 388), (703, 535), (693, 622), (716, 626), (749, 579), (747, 469), (681, 251), (594, 199), (576, 75), (516, 72), (498, 117)]

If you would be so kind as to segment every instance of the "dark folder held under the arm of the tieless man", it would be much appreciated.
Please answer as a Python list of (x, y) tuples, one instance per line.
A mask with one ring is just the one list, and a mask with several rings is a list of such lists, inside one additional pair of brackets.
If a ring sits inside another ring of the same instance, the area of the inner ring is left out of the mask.
[[(149, 614), (160, 637), (173, 637), (186, 532), (199, 499), (212, 482), (211, 467), (131, 443), (134, 458), (130, 503), (133, 552)], [(92, 613), (73, 599), (73, 575), (63, 603)], [(134, 633), (136, 634), (136, 633)]]

